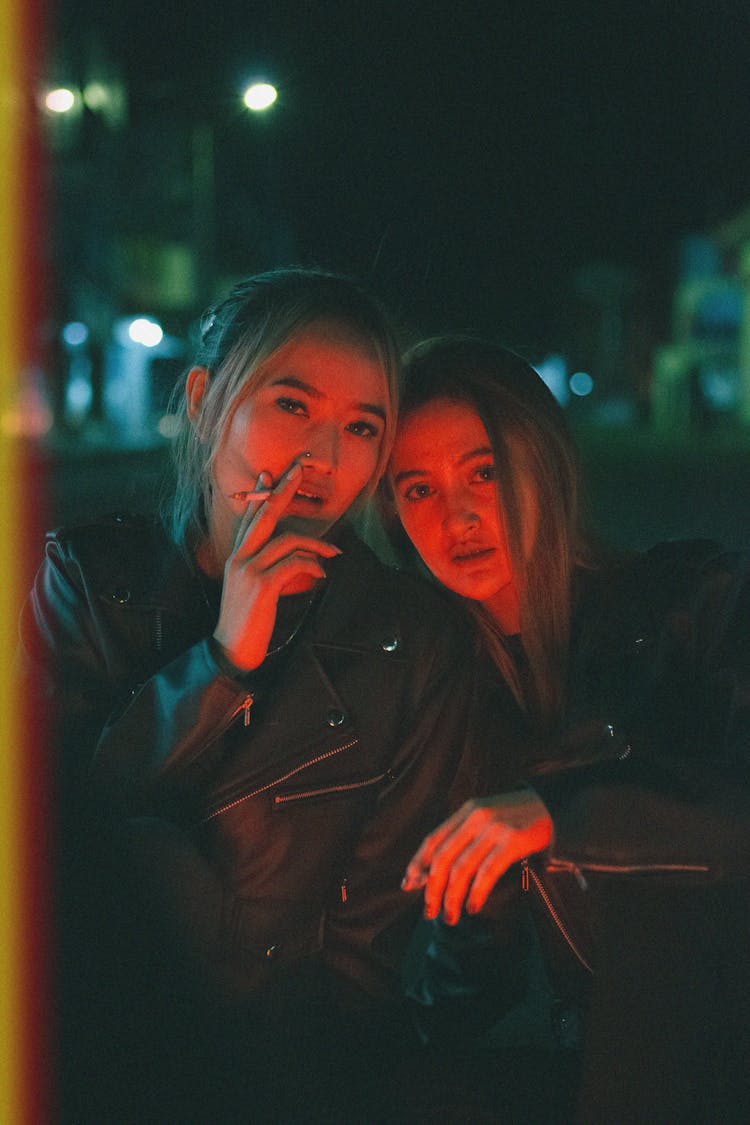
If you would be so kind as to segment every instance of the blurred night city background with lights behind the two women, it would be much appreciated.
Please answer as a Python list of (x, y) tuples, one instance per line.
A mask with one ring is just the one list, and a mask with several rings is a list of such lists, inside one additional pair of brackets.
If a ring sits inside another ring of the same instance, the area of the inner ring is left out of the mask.
[(60, 0), (4, 418), (45, 522), (153, 508), (201, 313), (302, 262), (406, 338), (525, 354), (611, 538), (750, 547), (749, 33), (735, 2)]

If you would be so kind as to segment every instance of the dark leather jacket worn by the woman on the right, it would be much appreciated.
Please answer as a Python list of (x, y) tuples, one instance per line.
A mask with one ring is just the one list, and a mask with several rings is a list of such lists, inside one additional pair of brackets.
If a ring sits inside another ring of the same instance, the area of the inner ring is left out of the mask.
[[(554, 834), (545, 853), (497, 884), (479, 919), (423, 927), (406, 990), (423, 1010), (421, 1026), (436, 1038), (445, 1025), (451, 1034), (463, 1027), (463, 1008), (481, 1028), (482, 1006), (495, 999), (498, 1018), (515, 999), (504, 974), (507, 945), (493, 956), (477, 927), (507, 910), (509, 883), (528, 892), (563, 1020), (609, 955), (606, 910), (614, 893), (633, 893), (636, 930), (641, 889), (665, 902), (680, 892), (703, 901), (744, 882), (747, 899), (750, 560), (706, 540), (666, 542), (581, 569), (575, 592), (559, 729), (530, 738), (519, 713), (514, 721), (500, 677), (495, 691), (486, 687), (496, 776), (480, 792), (507, 790), (514, 763), (512, 783), (523, 778), (541, 794)], [(742, 948), (747, 934), (737, 940)], [(446, 1016), (436, 1011), (439, 1000)], [(580, 1022), (575, 1034), (559, 1030), (572, 1042)]]

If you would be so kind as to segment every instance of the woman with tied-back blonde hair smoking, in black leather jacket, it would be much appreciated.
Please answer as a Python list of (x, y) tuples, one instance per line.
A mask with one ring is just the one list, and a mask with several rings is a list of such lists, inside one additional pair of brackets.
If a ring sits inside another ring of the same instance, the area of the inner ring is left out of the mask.
[(48, 538), (21, 642), (60, 777), (70, 1119), (349, 1120), (400, 1027), (401, 871), (476, 750), (460, 615), (350, 522), (398, 375), (350, 279), (249, 278), (179, 388), (163, 518)]

